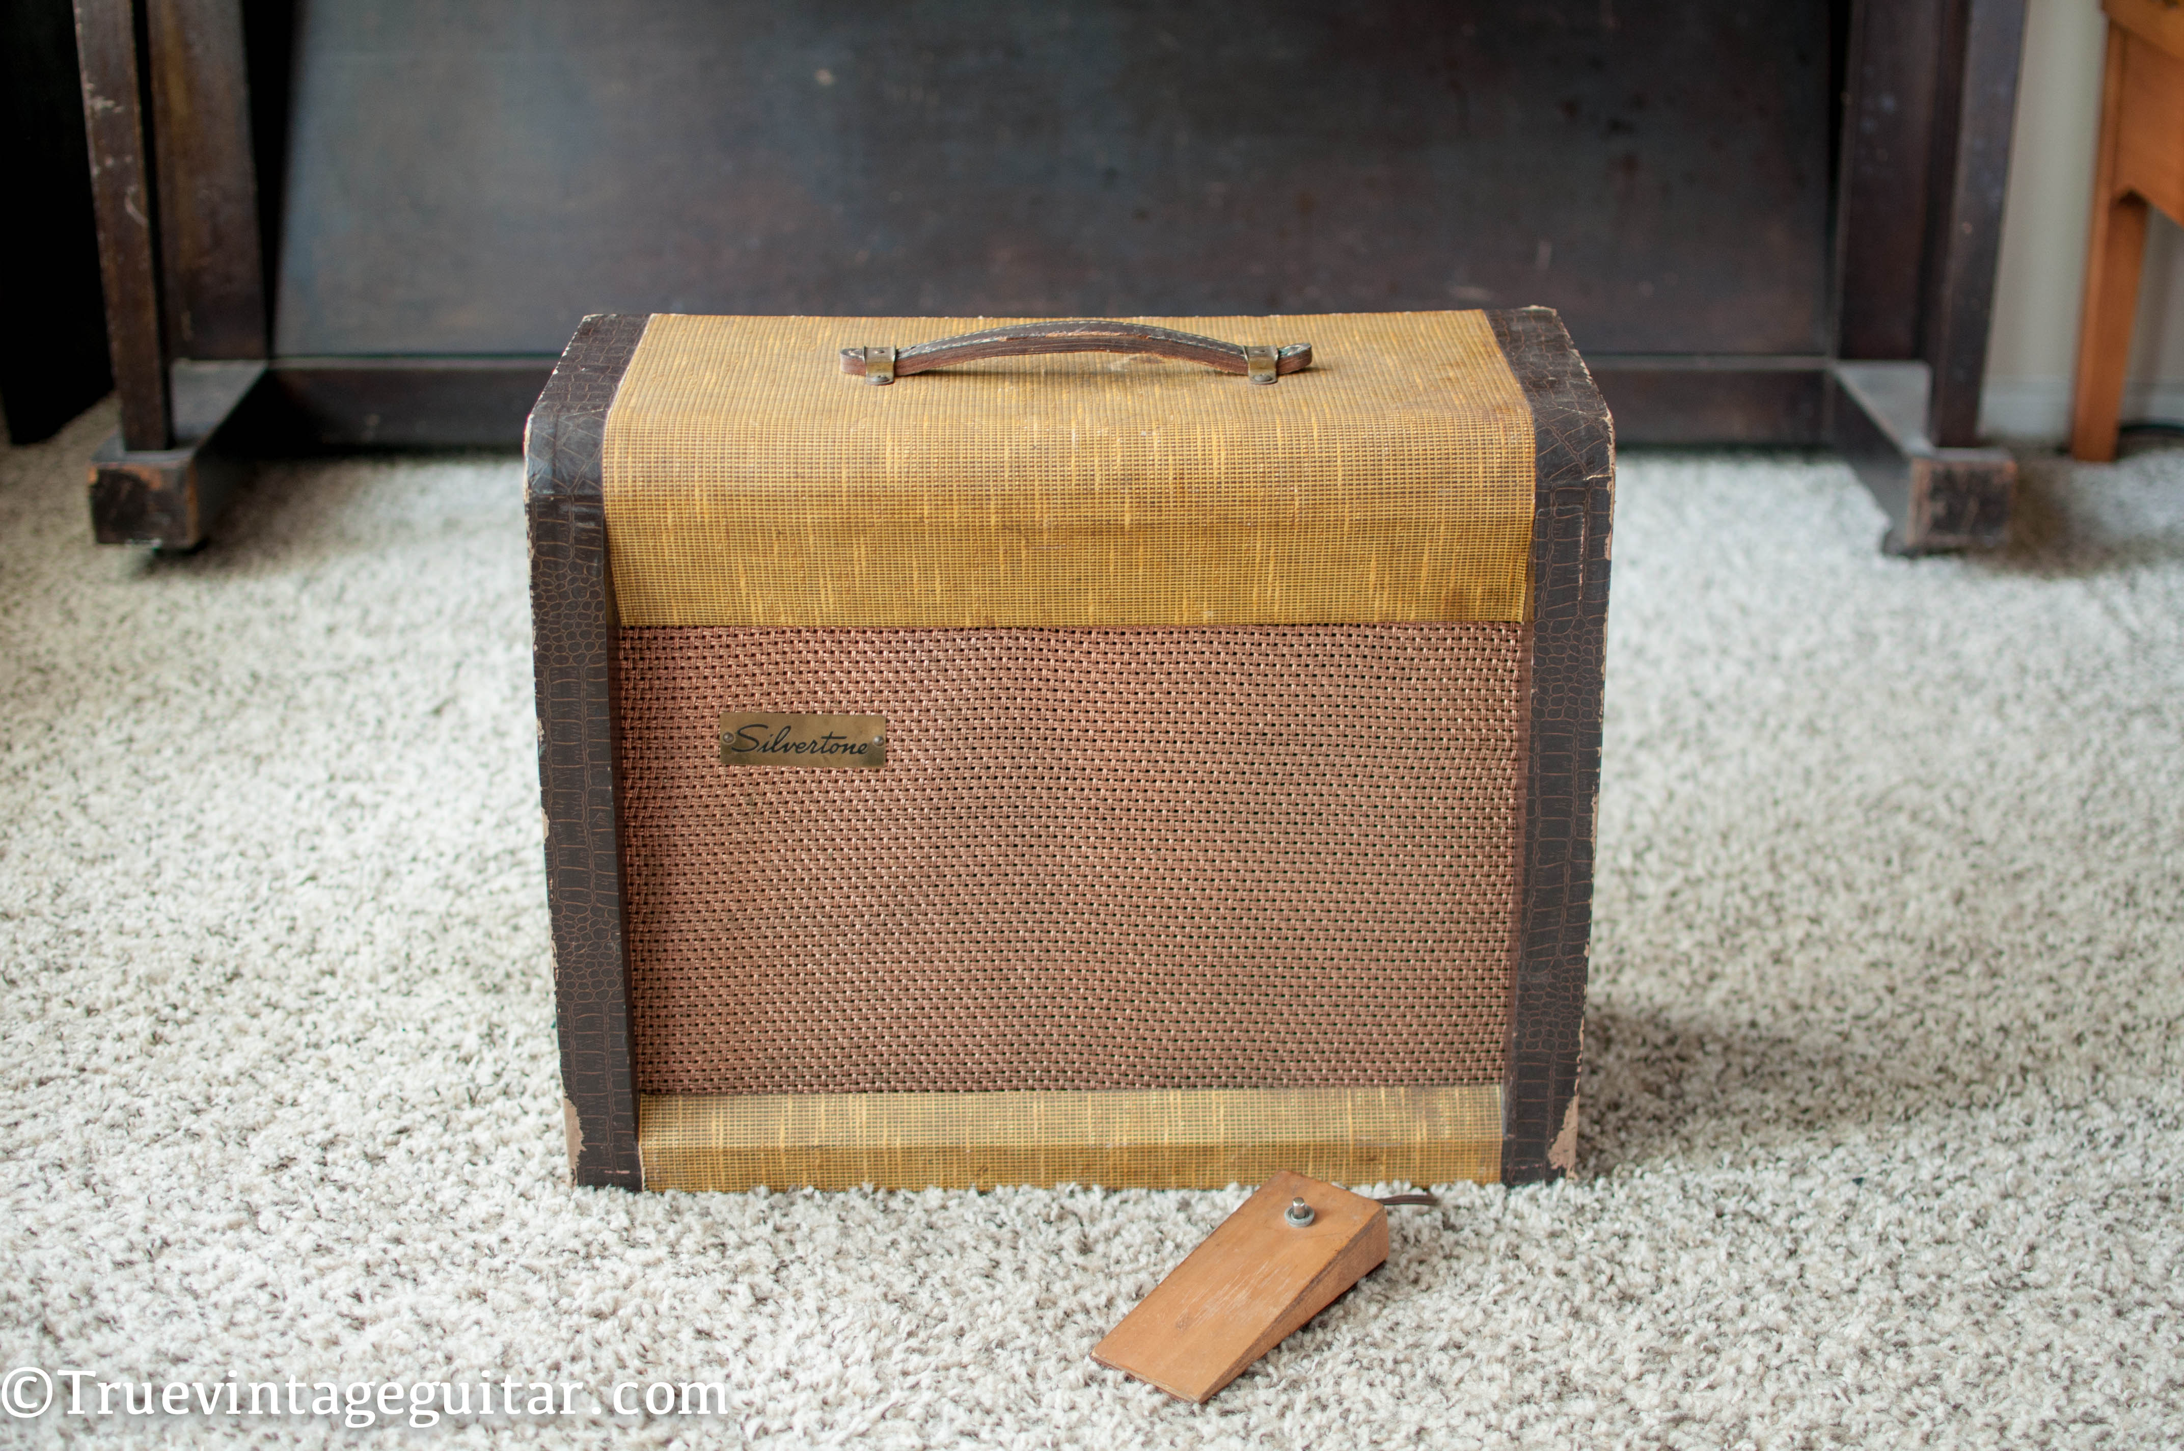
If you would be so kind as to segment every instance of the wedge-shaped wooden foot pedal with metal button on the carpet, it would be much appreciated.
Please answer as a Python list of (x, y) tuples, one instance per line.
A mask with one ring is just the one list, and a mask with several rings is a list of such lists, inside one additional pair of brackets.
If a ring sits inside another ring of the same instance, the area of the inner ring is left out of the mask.
[(1275, 1173), (1123, 1316), (1092, 1359), (1206, 1401), (1385, 1259), (1378, 1200)]

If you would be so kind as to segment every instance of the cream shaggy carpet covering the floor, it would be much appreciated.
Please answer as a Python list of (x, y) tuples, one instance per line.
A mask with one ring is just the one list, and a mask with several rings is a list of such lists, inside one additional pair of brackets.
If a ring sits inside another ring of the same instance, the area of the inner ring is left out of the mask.
[[(1195, 1409), (1085, 1350), (1241, 1191), (570, 1189), (515, 463), (155, 559), (109, 428), (0, 474), (0, 1370), (214, 1412), (0, 1440), (2184, 1442), (2184, 452), (1928, 562), (1835, 461), (1627, 457), (1579, 1173), (1396, 1211)], [(727, 1409), (308, 1409), (480, 1377)]]

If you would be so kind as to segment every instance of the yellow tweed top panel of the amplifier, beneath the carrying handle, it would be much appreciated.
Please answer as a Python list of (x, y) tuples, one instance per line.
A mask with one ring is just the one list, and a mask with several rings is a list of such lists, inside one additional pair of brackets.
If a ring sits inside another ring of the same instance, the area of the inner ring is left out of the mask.
[(622, 623), (1527, 618), (1531, 411), (1485, 315), (1144, 321), (1315, 363), (1265, 387), (1061, 354), (874, 387), (841, 347), (996, 319), (653, 317), (605, 430)]

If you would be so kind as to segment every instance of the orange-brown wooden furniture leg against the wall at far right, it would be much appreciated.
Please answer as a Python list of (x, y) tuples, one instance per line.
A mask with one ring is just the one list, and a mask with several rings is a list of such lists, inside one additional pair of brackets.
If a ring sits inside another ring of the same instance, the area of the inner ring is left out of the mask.
[(2138, 264), (2147, 251), (2147, 203), (2118, 181), (2123, 140), (2125, 35), (2108, 26), (2101, 76), (2101, 153), (2092, 181), (2092, 238), (2086, 247), (2086, 306), (2077, 323), (2077, 385), (2070, 398), (2070, 457), (2110, 463), (2123, 415), (2123, 376), (2132, 363)]

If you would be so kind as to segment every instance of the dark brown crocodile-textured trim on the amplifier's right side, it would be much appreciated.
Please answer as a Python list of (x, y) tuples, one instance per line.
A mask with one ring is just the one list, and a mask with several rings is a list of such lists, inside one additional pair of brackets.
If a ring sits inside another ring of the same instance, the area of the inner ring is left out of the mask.
[(1568, 1169), (1586, 1029), (1616, 437), (1553, 308), (1489, 319), (1531, 404), (1538, 476), (1524, 885), (1503, 1095), (1503, 1182), (1529, 1184)]

